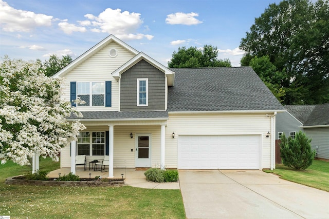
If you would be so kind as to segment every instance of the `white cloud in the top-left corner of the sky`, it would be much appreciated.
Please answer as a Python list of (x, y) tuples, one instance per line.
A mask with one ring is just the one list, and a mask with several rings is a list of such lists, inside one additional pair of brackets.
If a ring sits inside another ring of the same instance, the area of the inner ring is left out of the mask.
[(7, 32), (30, 32), (35, 27), (51, 26), (52, 16), (17, 10), (0, 0), (0, 26)]

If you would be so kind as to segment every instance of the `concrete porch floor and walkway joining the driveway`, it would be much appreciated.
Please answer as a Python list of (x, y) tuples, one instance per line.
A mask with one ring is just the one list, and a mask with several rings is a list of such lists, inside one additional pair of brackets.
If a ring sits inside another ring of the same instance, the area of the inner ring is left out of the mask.
[[(107, 171), (108, 169), (105, 169)], [(63, 176), (64, 174), (67, 175), (71, 172), (70, 168), (60, 168), (54, 171), (51, 171), (47, 176), (50, 178), (57, 178), (59, 176), (59, 173)], [(144, 170), (137, 170), (135, 168), (114, 168), (114, 178), (122, 178), (121, 174), (123, 174), (123, 178), (125, 178), (124, 183), (133, 186), (133, 187), (139, 187), (139, 188), (145, 188), (145, 189), (180, 189), (179, 183), (153, 183), (148, 182), (146, 180), (146, 177), (144, 175)], [(100, 171), (94, 171), (92, 169), (89, 170), (87, 168), (84, 170), (84, 168), (77, 168), (76, 175), (78, 175), (80, 178), (95, 178), (95, 176), (101, 176), (102, 178), (108, 177), (108, 172), (100, 172)]]

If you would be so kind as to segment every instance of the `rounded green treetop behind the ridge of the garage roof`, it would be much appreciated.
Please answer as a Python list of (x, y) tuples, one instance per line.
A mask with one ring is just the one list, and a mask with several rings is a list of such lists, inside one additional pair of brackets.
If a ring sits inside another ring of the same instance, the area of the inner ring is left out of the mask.
[(168, 62), (169, 68), (199, 68), (199, 67), (231, 67), (229, 59), (218, 59), (217, 47), (205, 45), (203, 49), (196, 47), (179, 47), (174, 51)]

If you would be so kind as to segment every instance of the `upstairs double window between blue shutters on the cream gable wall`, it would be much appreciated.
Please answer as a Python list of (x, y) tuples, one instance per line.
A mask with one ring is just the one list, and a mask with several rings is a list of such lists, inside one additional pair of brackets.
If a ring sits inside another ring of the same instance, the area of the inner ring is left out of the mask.
[(79, 104), (79, 106), (104, 106), (104, 82), (82, 82), (77, 84), (77, 95), (85, 102), (85, 104)]

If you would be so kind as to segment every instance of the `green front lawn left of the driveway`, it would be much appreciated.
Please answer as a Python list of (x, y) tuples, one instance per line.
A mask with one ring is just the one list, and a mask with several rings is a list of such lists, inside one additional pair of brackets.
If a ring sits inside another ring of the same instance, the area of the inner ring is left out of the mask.
[[(58, 169), (49, 158), (40, 170)], [(12, 218), (186, 218), (179, 190), (124, 187), (13, 186), (5, 178), (31, 171), (0, 166), (0, 215)]]

